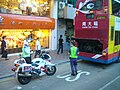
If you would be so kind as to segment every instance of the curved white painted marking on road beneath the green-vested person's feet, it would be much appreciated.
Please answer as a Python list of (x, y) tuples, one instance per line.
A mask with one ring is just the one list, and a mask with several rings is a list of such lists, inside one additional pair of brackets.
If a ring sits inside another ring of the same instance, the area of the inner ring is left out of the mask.
[(67, 75), (66, 74), (57, 75), (57, 78), (65, 78), (66, 81), (73, 82), (78, 80), (82, 74), (90, 75), (90, 72), (79, 70), (78, 74), (75, 76), (74, 79), (71, 79), (71, 74), (68, 74), (68, 73)]

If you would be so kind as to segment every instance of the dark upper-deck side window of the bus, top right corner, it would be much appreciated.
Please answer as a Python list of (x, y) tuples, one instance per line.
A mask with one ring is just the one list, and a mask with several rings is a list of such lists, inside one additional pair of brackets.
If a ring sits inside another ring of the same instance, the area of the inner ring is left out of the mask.
[(120, 1), (112, 0), (112, 14), (120, 16)]

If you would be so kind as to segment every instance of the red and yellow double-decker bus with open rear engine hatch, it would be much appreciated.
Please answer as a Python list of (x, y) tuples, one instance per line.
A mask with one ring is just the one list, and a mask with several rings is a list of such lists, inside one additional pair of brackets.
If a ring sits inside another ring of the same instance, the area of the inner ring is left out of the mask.
[[(120, 41), (116, 44), (116, 24), (120, 25), (120, 18), (112, 15), (113, 3), (118, 2), (113, 0), (77, 1), (74, 39), (79, 48), (79, 59), (104, 64), (118, 60)], [(92, 6), (102, 6), (102, 8), (93, 9)], [(120, 28), (117, 27), (117, 29), (120, 31)]]

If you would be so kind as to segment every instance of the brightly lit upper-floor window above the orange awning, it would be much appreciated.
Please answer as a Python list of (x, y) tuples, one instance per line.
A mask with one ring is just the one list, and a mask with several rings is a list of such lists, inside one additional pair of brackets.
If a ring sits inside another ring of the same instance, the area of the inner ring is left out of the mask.
[(0, 13), (50, 16), (49, 0), (0, 0)]

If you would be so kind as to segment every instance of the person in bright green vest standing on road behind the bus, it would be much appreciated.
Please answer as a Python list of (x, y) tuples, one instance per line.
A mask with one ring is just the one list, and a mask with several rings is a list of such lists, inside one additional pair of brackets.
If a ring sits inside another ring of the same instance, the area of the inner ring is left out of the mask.
[(77, 75), (77, 59), (78, 59), (78, 48), (75, 47), (75, 43), (74, 42), (71, 42), (71, 47), (70, 47), (70, 56), (69, 56), (69, 59), (70, 59), (70, 66), (71, 66), (71, 75), (72, 76), (75, 76)]

